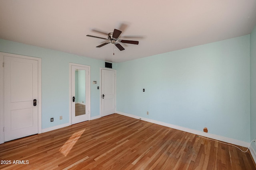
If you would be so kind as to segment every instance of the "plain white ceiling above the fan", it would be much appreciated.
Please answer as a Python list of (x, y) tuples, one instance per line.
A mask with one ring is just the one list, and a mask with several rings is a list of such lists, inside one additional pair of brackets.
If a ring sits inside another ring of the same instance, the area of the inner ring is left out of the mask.
[[(1, 39), (115, 63), (247, 35), (255, 25), (256, 0), (0, 0)], [(86, 37), (114, 28), (139, 45), (96, 48), (105, 41)]]

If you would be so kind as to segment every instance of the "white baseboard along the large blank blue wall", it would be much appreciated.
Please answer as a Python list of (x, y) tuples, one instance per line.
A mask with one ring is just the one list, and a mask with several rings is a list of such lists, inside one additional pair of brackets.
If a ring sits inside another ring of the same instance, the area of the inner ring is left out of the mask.
[(234, 145), (239, 145), (239, 146), (242, 146), (242, 147), (249, 147), (249, 145), (250, 145), (250, 143), (248, 143), (248, 142), (239, 141), (239, 140), (236, 140), (236, 139), (223, 137), (223, 136), (219, 136), (219, 135), (214, 135), (214, 134), (210, 134), (210, 133), (205, 133), (205, 132), (197, 131), (197, 130), (194, 130), (194, 129), (189, 129), (189, 128), (186, 128), (186, 127), (172, 125), (172, 124), (169, 124), (169, 123), (164, 123), (162, 121), (156, 121), (156, 120), (153, 120), (153, 119), (139, 117), (139, 116), (128, 114), (128, 113), (122, 113), (120, 111), (117, 111), (116, 113), (118, 113), (120, 115), (128, 116), (128, 117), (132, 117), (132, 118), (135, 118), (135, 119), (141, 119), (143, 121), (147, 121), (147, 122), (150, 122), (150, 123), (155, 123), (155, 124), (158, 124), (158, 125), (170, 127), (170, 128), (173, 128), (173, 129), (178, 129), (180, 131), (185, 131), (185, 132), (188, 132), (188, 133), (193, 133), (193, 134), (196, 134), (196, 135), (208, 137), (208, 138), (215, 139), (215, 140), (218, 140), (218, 141), (223, 141), (223, 142), (231, 143), (231, 144), (234, 144)]

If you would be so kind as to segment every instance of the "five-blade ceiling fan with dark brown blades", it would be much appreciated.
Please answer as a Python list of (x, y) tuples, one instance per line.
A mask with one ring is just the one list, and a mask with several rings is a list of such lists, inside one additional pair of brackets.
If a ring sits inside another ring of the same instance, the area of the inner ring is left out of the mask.
[(114, 32), (108, 33), (108, 38), (96, 37), (96, 36), (93, 36), (93, 35), (86, 35), (86, 36), (108, 40), (108, 42), (103, 43), (101, 45), (98, 45), (97, 47), (102, 47), (104, 45), (112, 43), (112, 44), (116, 45), (116, 47), (120, 51), (124, 50), (124, 47), (122, 47), (122, 45), (120, 43), (128, 43), (128, 44), (136, 44), (136, 45), (139, 44), (139, 41), (119, 39), (118, 37), (120, 36), (121, 33), (122, 33), (122, 31), (120, 31), (118, 29), (114, 29)]

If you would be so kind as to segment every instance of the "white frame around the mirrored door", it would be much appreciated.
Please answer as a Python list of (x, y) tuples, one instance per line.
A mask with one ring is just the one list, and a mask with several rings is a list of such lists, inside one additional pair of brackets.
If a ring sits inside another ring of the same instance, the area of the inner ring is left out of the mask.
[(89, 76), (88, 76), (89, 119), (88, 120), (91, 120), (91, 66), (84, 65), (84, 64), (69, 63), (69, 101), (70, 101), (69, 102), (69, 125), (72, 125), (72, 66), (88, 67), (88, 70), (89, 70)]

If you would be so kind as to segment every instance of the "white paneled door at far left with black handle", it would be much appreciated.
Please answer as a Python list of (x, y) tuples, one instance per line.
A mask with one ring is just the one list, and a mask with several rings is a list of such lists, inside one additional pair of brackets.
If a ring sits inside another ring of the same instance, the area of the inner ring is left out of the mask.
[(4, 141), (38, 133), (37, 100), (38, 61), (4, 56)]

